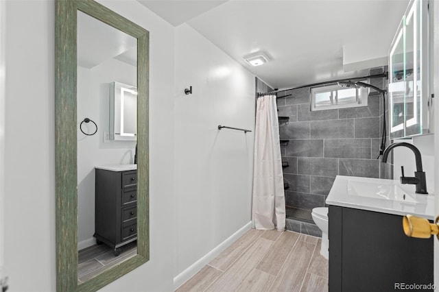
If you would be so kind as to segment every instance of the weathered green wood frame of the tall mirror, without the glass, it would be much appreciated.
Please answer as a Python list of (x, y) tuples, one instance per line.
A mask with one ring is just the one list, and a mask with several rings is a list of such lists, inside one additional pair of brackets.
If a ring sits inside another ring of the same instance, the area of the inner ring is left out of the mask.
[[(56, 0), (56, 288), (96, 291), (149, 254), (149, 32), (93, 0)], [(137, 40), (137, 254), (78, 282), (78, 11)]]

